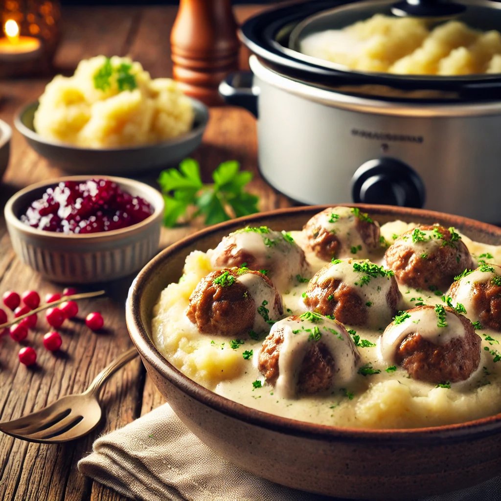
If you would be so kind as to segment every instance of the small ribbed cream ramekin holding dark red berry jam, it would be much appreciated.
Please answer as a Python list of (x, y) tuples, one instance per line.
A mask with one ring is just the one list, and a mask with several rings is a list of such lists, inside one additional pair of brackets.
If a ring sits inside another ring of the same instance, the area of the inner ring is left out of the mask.
[(8, 200), (5, 218), (16, 254), (49, 280), (62, 284), (107, 282), (137, 272), (157, 253), (164, 211), (161, 193), (132, 179), (100, 178), (115, 181), (123, 191), (144, 198), (154, 209), (151, 216), (126, 228), (87, 234), (42, 231), (20, 220), (48, 187), (60, 181), (85, 181), (89, 176), (42, 181), (18, 191)]

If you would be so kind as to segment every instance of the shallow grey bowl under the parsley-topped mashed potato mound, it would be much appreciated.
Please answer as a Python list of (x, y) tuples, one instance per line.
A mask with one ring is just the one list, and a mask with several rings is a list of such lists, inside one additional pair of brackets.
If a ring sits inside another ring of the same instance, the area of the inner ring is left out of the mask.
[(195, 111), (193, 128), (169, 141), (124, 148), (81, 148), (45, 139), (35, 132), (33, 117), (38, 101), (27, 104), (14, 118), (14, 125), (28, 144), (40, 155), (67, 172), (74, 174), (141, 174), (168, 165), (177, 165), (202, 142), (209, 112), (207, 107), (190, 98)]

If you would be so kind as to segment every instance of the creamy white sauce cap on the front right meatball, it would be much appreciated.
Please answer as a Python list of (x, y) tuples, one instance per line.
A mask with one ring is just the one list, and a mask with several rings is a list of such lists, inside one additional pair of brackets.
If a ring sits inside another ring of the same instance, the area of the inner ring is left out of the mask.
[(444, 320), (447, 325), (438, 327), (438, 317), (432, 308), (409, 313), (409, 318), (384, 331), (378, 342), (378, 355), (382, 361), (393, 365), (396, 362), (397, 348), (412, 333), (417, 333), (430, 343), (441, 346), (446, 345), (454, 338), (464, 337), (463, 324), (456, 315), (445, 311)]

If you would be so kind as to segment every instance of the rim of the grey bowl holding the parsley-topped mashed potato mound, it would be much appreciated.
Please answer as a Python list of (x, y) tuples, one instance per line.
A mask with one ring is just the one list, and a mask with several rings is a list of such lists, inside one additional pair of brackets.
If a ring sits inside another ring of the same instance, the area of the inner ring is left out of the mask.
[(196, 124), (195, 127), (190, 129), (188, 132), (180, 134), (179, 136), (173, 137), (172, 139), (169, 139), (167, 141), (161, 141), (159, 143), (147, 143), (142, 145), (136, 144), (134, 146), (120, 146), (117, 148), (85, 148), (82, 146), (76, 146), (71, 143), (66, 143), (64, 141), (57, 141), (55, 139), (46, 139), (45, 137), (42, 137), (34, 130), (27, 127), (21, 120), (21, 117), (27, 112), (28, 109), (34, 106), (38, 107), (39, 103), (38, 100), (26, 104), (16, 112), (14, 116), (14, 125), (16, 126), (16, 129), (18, 129), (18, 131), (21, 132), (21, 134), (23, 134), (23, 136), (38, 143), (48, 144), (59, 148), (69, 148), (79, 151), (92, 151), (92, 152), (141, 151), (145, 149), (164, 148), (165, 146), (172, 146), (174, 144), (183, 143), (191, 139), (192, 137), (197, 136), (200, 133), (200, 131), (203, 130), (207, 125), (209, 119), (209, 112), (207, 110), (207, 107), (197, 99), (193, 99), (190, 97), (188, 97), (188, 99), (191, 101), (191, 105), (193, 106), (193, 110), (195, 111), (195, 120), (196, 118), (198, 118), (199, 123)]

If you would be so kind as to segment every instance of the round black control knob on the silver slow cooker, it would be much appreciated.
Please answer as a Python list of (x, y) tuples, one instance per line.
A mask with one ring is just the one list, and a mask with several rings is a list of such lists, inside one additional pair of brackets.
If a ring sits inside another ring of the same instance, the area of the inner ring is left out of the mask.
[(383, 157), (369, 160), (356, 170), (352, 197), (356, 203), (421, 208), (426, 190), (414, 169), (396, 158)]

